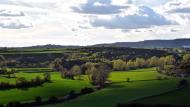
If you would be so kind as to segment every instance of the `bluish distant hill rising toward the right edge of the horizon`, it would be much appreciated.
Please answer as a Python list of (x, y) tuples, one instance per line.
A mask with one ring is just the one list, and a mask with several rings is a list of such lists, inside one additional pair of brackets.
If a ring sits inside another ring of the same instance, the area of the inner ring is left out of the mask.
[(94, 47), (131, 47), (131, 48), (182, 48), (190, 47), (190, 39), (146, 40), (140, 42), (116, 42), (97, 44)]

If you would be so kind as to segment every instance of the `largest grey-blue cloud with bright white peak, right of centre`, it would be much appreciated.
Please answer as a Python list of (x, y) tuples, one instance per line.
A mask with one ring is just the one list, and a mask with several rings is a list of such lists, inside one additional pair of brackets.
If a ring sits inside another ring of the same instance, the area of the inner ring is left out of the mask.
[(146, 6), (131, 5), (125, 12), (109, 17), (111, 18), (94, 18), (91, 23), (94, 27), (124, 30), (174, 24), (174, 22)]

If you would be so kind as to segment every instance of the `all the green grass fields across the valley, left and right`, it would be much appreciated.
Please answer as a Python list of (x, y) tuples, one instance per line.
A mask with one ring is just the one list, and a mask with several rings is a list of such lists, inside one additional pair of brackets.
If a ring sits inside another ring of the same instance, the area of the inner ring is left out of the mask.
[[(35, 71), (37, 68), (17, 68), (21, 71)], [(39, 70), (47, 70), (48, 68), (39, 68)], [(43, 77), (43, 73), (16, 73), (16, 77), (26, 77), (27, 79), (35, 78), (36, 76)], [(154, 68), (138, 69), (131, 71), (112, 72), (109, 80), (112, 84), (102, 90), (92, 94), (83, 95), (69, 102), (59, 103), (55, 105), (47, 105), (45, 107), (115, 107), (117, 103), (130, 103), (134, 100), (148, 104), (190, 104), (189, 87), (180, 91), (169, 93), (157, 97), (143, 99), (144, 97), (160, 94), (173, 89), (176, 89), (180, 78), (168, 77), (169, 79), (157, 80), (161, 75)], [(41, 96), (43, 100), (47, 100), (50, 96), (62, 97), (68, 94), (71, 90), (79, 91), (84, 87), (91, 86), (84, 78), (83, 80), (68, 80), (62, 79), (58, 72), (51, 72), (52, 83), (45, 83), (43, 86), (33, 87), (28, 89), (10, 89), (0, 91), (0, 104), (6, 104), (10, 101), (34, 101), (36, 96)], [(130, 82), (126, 82), (130, 78)], [(190, 80), (190, 79), (189, 79)], [(16, 78), (8, 79), (3, 75), (0, 76), (0, 81), (9, 81), (15, 84)], [(142, 98), (142, 99), (141, 99)]]

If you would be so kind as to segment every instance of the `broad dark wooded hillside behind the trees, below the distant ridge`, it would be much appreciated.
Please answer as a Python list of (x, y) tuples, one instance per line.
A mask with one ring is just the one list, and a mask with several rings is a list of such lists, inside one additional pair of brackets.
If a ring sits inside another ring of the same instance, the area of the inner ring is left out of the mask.
[[(49, 67), (52, 61), (56, 58), (65, 57), (70, 61), (81, 61), (81, 62), (104, 62), (116, 59), (130, 60), (136, 57), (149, 58), (152, 56), (163, 56), (167, 55), (166, 51), (156, 49), (134, 49), (134, 48), (121, 48), (121, 47), (85, 47), (85, 48), (68, 48), (64, 49), (64, 52), (60, 52), (63, 49), (56, 50), (28, 50), (18, 49), (1, 52), (5, 53), (4, 58), (1, 59), (6, 61), (2, 63), (3, 66), (7, 67)], [(59, 52), (52, 52), (59, 51)], [(14, 54), (6, 54), (14, 53)], [(20, 54), (22, 53), (22, 54)], [(38, 54), (34, 54), (38, 53)], [(1, 62), (1, 61), (0, 61)], [(76, 63), (75, 63), (76, 64)], [(79, 64), (76, 64), (79, 65)]]

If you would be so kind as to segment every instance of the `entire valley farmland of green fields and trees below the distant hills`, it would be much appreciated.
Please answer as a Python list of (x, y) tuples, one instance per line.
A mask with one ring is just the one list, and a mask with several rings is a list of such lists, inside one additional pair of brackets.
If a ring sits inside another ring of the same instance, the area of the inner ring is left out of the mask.
[[(178, 89), (180, 81), (190, 80), (188, 58), (188, 54), (182, 56), (162, 50), (111, 47), (1, 51), (0, 104), (19, 102), (31, 107), (190, 105), (187, 83)], [(186, 78), (179, 76), (180, 67), (187, 69), (183, 74)], [(44, 82), (45, 74), (50, 81)], [(39, 78), (43, 83), (34, 85)], [(93, 92), (82, 94), (86, 87)], [(71, 92), (77, 97), (61, 100)], [(52, 96), (57, 100), (51, 102)], [(40, 98), (40, 103), (36, 98)]]

